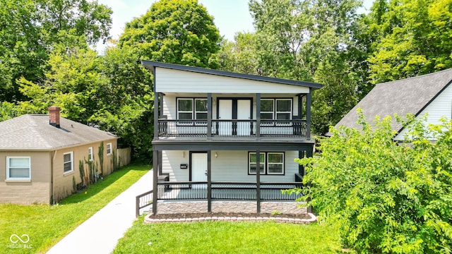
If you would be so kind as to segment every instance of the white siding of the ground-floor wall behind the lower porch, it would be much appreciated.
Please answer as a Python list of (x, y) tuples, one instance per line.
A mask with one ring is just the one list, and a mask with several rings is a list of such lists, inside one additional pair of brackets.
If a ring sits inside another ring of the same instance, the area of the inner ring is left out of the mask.
[[(213, 150), (212, 181), (256, 181), (256, 175), (248, 174), (248, 152)], [(215, 157), (215, 153), (218, 155), (217, 157)], [(169, 181), (189, 181), (189, 169), (180, 169), (180, 164), (189, 164), (189, 157), (189, 151), (162, 151), (162, 173), (169, 174)], [(285, 174), (261, 175), (261, 181), (295, 181), (295, 174), (298, 173), (295, 158), (298, 158), (297, 151), (286, 151)]]

